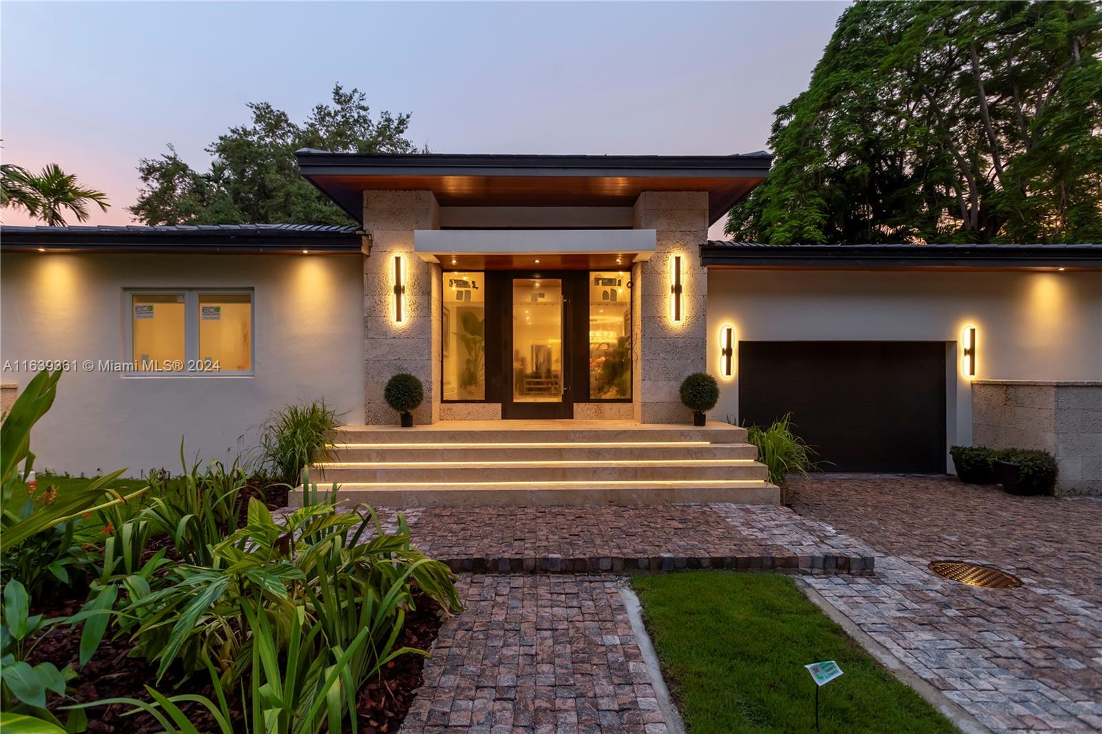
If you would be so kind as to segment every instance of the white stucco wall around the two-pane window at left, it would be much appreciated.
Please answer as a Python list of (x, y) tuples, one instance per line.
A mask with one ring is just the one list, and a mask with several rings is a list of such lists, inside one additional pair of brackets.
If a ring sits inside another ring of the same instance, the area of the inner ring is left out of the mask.
[[(74, 474), (180, 471), (256, 445), (268, 413), (324, 398), (347, 420), (364, 406), (359, 256), (4, 255), (0, 363), (125, 359), (127, 288), (255, 289), (255, 375), (62, 377), (34, 430), (35, 466)], [(4, 371), (22, 389), (33, 375)]]

